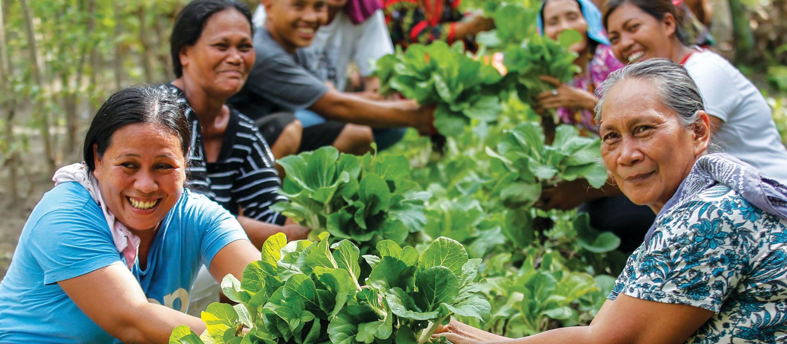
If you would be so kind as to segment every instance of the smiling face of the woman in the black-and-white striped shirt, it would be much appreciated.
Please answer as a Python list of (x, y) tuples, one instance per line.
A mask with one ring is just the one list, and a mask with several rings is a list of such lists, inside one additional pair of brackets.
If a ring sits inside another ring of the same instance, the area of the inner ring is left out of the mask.
[(210, 96), (238, 93), (254, 66), (251, 26), (236, 9), (224, 9), (205, 22), (194, 46), (180, 49), (183, 75)]

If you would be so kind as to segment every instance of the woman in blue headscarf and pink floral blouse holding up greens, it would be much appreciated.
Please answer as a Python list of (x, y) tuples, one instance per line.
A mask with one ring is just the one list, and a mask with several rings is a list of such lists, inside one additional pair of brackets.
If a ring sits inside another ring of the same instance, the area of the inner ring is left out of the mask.
[(607, 79), (609, 73), (623, 68), (609, 47), (601, 25), (601, 12), (590, 0), (545, 0), (541, 3), (538, 28), (552, 39), (567, 29), (582, 34), (582, 41), (570, 48), (579, 54), (574, 64), (582, 68), (582, 72), (566, 84), (549, 76), (542, 77), (556, 89), (539, 94), (539, 105), (541, 108), (557, 108), (563, 123), (597, 134), (598, 126), (593, 121), (593, 108), (598, 103), (596, 87)]

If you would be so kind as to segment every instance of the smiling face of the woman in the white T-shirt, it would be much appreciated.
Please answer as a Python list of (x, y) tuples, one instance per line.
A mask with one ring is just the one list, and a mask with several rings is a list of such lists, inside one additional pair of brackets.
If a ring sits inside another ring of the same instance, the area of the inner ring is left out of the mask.
[(677, 40), (672, 14), (666, 13), (663, 20), (657, 20), (630, 3), (608, 14), (607, 33), (612, 52), (623, 64), (657, 57), (671, 58)]

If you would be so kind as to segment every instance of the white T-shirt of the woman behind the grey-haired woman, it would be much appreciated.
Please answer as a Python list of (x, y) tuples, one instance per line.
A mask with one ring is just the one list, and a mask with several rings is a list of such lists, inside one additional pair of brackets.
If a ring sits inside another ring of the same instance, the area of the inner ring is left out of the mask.
[(787, 149), (762, 93), (729, 61), (708, 50), (693, 53), (684, 67), (705, 102), (705, 111), (724, 123), (715, 135), (724, 152), (787, 183)]

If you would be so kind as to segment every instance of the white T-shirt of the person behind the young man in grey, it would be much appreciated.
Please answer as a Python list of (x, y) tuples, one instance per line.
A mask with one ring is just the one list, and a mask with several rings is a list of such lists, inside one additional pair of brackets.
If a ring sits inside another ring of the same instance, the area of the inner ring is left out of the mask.
[[(257, 30), (264, 25), (265, 17), (265, 8), (257, 6), (253, 18)], [(339, 11), (331, 24), (320, 27), (312, 45), (304, 50), (309, 69), (333, 83), (336, 90), (343, 91), (347, 83), (347, 66), (351, 60), (358, 65), (361, 76), (369, 76), (380, 57), (393, 53), (393, 43), (382, 10), (357, 25), (343, 11)]]

